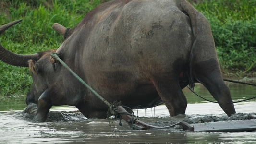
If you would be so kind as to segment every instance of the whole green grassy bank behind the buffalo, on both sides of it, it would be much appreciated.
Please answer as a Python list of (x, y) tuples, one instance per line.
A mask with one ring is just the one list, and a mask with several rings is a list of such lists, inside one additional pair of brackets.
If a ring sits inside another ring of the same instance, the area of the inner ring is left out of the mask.
[[(0, 42), (19, 54), (56, 49), (63, 36), (55, 22), (75, 27), (85, 13), (108, 0), (0, 0), (0, 25), (23, 19), (9, 28)], [(223, 71), (256, 69), (256, 1), (203, 0), (194, 4), (209, 20)], [(32, 78), (27, 68), (0, 61), (0, 96), (26, 94)]]

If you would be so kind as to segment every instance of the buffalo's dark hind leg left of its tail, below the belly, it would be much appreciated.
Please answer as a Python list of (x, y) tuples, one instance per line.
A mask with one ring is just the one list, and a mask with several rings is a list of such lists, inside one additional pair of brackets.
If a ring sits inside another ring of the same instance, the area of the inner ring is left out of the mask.
[(182, 92), (178, 80), (157, 78), (156, 81), (154, 81), (154, 84), (159, 96), (168, 108), (171, 117), (185, 114), (187, 99)]

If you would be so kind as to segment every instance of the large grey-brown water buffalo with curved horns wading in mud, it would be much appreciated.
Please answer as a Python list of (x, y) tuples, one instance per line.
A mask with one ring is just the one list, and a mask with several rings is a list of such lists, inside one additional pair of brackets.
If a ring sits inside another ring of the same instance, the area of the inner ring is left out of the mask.
[[(0, 33), (19, 21), (0, 27)], [(108, 106), (50, 52), (20, 55), (0, 47), (0, 60), (29, 67), (38, 105), (34, 120), (45, 121), (52, 106), (76, 106), (87, 118), (106, 118)], [(184, 114), (182, 89), (203, 84), (224, 112), (235, 113), (219, 68), (207, 19), (185, 0), (114, 0), (88, 12), (56, 50), (60, 58), (108, 102), (130, 108), (165, 103), (170, 116)]]

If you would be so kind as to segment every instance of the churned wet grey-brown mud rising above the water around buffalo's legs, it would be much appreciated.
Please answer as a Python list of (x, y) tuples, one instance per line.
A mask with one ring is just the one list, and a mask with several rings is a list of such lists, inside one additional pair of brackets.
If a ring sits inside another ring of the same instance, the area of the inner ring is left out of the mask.
[[(33, 121), (37, 109), (37, 104), (30, 104), (25, 108), (21, 113), (16, 113), (18, 117), (23, 117), (24, 120)], [(9, 113), (5, 113), (6, 115), (12, 114), (13, 111)], [(166, 126), (173, 125), (180, 121), (185, 121), (189, 124), (195, 123), (206, 123), (206, 122), (218, 122), (218, 121), (229, 121), (229, 120), (251, 120), (256, 119), (256, 113), (236, 113), (230, 117), (228, 116), (189, 116), (189, 115), (179, 115), (176, 117), (155, 117), (155, 118), (147, 118), (141, 117), (140, 120), (147, 119), (146, 121), (152, 121), (150, 124), (156, 126)], [(87, 119), (82, 113), (79, 111), (75, 112), (66, 112), (66, 111), (51, 111), (48, 114), (48, 118), (46, 122), (70, 122), (70, 121), (84, 121), (84, 120), (98, 120), (98, 119)], [(119, 119), (113, 119), (112, 121), (118, 121)], [(111, 123), (111, 120), (109, 120)], [(178, 128), (177, 128), (178, 129)]]

